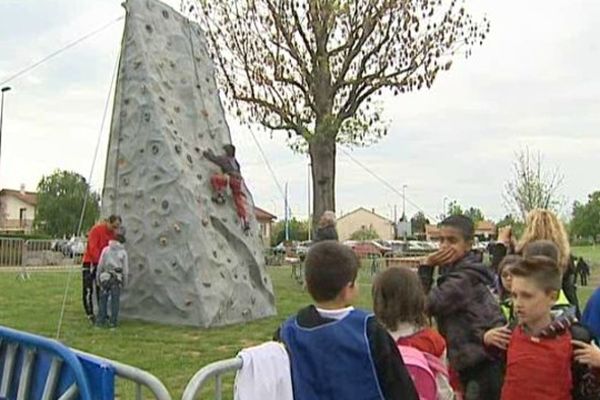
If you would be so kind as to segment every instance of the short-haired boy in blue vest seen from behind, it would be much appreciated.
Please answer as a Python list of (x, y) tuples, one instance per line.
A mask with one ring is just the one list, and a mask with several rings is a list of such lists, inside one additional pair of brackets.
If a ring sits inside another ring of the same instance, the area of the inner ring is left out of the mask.
[(372, 314), (352, 307), (359, 261), (335, 241), (311, 247), (306, 287), (315, 304), (276, 338), (290, 355), (294, 400), (409, 400), (418, 395), (394, 340)]

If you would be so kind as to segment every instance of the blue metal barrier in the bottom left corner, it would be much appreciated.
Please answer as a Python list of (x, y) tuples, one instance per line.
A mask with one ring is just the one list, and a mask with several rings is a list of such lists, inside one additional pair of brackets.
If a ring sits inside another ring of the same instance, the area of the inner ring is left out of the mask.
[(113, 400), (114, 387), (105, 360), (0, 326), (0, 400)]

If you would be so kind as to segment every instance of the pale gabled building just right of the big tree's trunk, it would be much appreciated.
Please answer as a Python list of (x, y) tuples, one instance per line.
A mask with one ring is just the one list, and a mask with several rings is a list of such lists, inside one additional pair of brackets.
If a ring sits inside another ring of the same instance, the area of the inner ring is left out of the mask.
[(364, 207), (360, 207), (337, 220), (340, 241), (349, 240), (354, 232), (361, 229), (374, 230), (380, 239), (394, 239), (394, 222), (375, 213), (374, 209), (369, 211)]

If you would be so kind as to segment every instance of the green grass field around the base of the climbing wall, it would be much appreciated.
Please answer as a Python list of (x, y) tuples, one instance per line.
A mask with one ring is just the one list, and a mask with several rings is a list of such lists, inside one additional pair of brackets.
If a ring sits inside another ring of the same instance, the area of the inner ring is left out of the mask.
[[(591, 286), (580, 288), (583, 305), (600, 283), (600, 247), (574, 248), (573, 252), (592, 260), (595, 267)], [(293, 280), (289, 267), (273, 267), (269, 272), (276, 292), (277, 317), (209, 330), (123, 321), (114, 331), (94, 328), (85, 319), (78, 270), (35, 272), (28, 281), (18, 280), (17, 273), (0, 272), (0, 325), (55, 337), (65, 284), (71, 279), (60, 340), (68, 346), (151, 372), (165, 383), (176, 399), (181, 397), (187, 381), (199, 368), (233, 357), (244, 347), (270, 340), (288, 315), (308, 304), (308, 295)], [(361, 271), (359, 282), (357, 305), (370, 308), (371, 276), (367, 269)], [(226, 384), (230, 388), (231, 380)], [(133, 393), (132, 387), (119, 385), (120, 399), (134, 398)]]

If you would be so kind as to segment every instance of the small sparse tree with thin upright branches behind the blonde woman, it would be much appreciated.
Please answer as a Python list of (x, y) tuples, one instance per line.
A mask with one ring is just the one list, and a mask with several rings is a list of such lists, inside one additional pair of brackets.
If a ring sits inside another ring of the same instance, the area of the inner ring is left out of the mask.
[(560, 211), (563, 201), (558, 191), (562, 182), (563, 175), (558, 168), (545, 171), (541, 153), (525, 148), (515, 153), (513, 176), (506, 182), (504, 202), (523, 221), (529, 211), (536, 208)]

